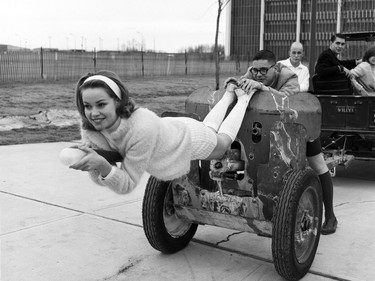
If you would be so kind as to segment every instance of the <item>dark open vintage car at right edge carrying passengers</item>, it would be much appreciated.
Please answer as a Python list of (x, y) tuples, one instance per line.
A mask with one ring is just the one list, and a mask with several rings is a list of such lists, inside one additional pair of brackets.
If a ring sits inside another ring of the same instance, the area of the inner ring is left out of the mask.
[[(375, 41), (375, 32), (344, 34), (346, 41)], [(359, 54), (358, 57), (361, 57)], [(375, 160), (375, 96), (360, 96), (349, 79), (312, 78), (313, 93), (322, 106), (321, 143), (334, 170), (352, 159)]]

